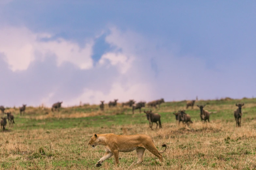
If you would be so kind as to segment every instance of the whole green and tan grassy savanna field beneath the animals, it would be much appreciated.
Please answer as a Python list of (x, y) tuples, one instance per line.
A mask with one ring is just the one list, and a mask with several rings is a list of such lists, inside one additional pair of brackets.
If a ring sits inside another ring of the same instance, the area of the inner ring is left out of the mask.
[[(233, 110), (236, 102), (244, 102), (242, 127), (235, 127)], [(178, 126), (172, 112), (185, 109), (186, 101), (166, 102), (151, 108), (161, 114), (162, 129), (150, 130), (145, 113), (131, 108), (108, 108), (85, 105), (61, 108), (27, 107), (24, 116), (16, 108), (8, 108), (15, 116), (14, 127), (0, 136), (1, 169), (256, 169), (256, 99), (197, 101), (207, 104), (210, 123), (202, 124), (199, 108), (189, 108), (193, 124)], [(150, 108), (145, 108), (150, 109)], [(156, 124), (153, 125), (155, 128)], [(137, 161), (136, 151), (120, 153), (120, 164), (114, 158), (100, 168), (94, 164), (104, 155), (103, 146), (92, 149), (88, 142), (93, 133), (146, 134), (162, 150), (168, 148), (163, 163), (145, 151), (144, 161)]]

